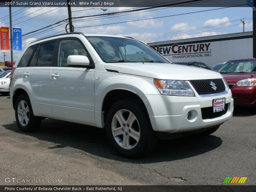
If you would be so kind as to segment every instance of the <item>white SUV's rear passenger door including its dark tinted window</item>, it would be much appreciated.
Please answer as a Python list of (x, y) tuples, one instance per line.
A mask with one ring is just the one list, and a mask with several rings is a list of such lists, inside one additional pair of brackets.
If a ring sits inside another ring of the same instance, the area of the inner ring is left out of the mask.
[(36, 46), (23, 79), (29, 89), (34, 115), (52, 118), (50, 76), (56, 40)]

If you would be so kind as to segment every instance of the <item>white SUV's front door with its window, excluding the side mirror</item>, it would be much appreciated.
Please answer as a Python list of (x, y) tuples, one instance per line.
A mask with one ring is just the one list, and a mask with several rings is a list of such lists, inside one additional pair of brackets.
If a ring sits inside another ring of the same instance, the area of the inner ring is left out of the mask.
[(93, 61), (77, 38), (58, 42), (57, 59), (51, 72), (53, 118), (95, 125), (93, 69), (68, 67), (69, 55), (84, 55)]

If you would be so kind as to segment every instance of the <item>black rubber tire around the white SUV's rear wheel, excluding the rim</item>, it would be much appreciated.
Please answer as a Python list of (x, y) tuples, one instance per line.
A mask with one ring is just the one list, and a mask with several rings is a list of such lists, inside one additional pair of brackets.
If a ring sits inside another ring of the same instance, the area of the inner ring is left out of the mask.
[[(19, 105), (21, 100), (24, 100), (27, 103), (28, 109), (29, 109), (29, 119), (28, 119), (28, 124), (26, 126), (21, 125), (20, 121), (19, 121), (19, 118), (18, 118), (18, 105)], [(16, 122), (17, 122), (20, 130), (23, 131), (23, 132), (33, 132), (33, 131), (36, 130), (36, 128), (41, 123), (40, 119), (38, 117), (34, 116), (29, 97), (25, 94), (20, 95), (18, 97), (18, 99), (16, 100), (15, 118), (16, 118)]]

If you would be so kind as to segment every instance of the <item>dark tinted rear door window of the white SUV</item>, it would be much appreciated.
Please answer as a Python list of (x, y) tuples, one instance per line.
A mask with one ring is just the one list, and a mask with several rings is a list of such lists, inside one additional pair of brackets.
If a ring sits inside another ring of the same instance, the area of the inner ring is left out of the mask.
[(56, 41), (41, 44), (37, 59), (38, 67), (53, 66), (53, 54)]

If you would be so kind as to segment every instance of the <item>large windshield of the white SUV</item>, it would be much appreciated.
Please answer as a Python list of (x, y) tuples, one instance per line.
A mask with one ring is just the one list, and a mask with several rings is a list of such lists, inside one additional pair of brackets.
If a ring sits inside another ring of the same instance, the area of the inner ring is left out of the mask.
[(169, 63), (147, 45), (134, 39), (106, 36), (87, 36), (88, 41), (106, 62), (159, 62)]

